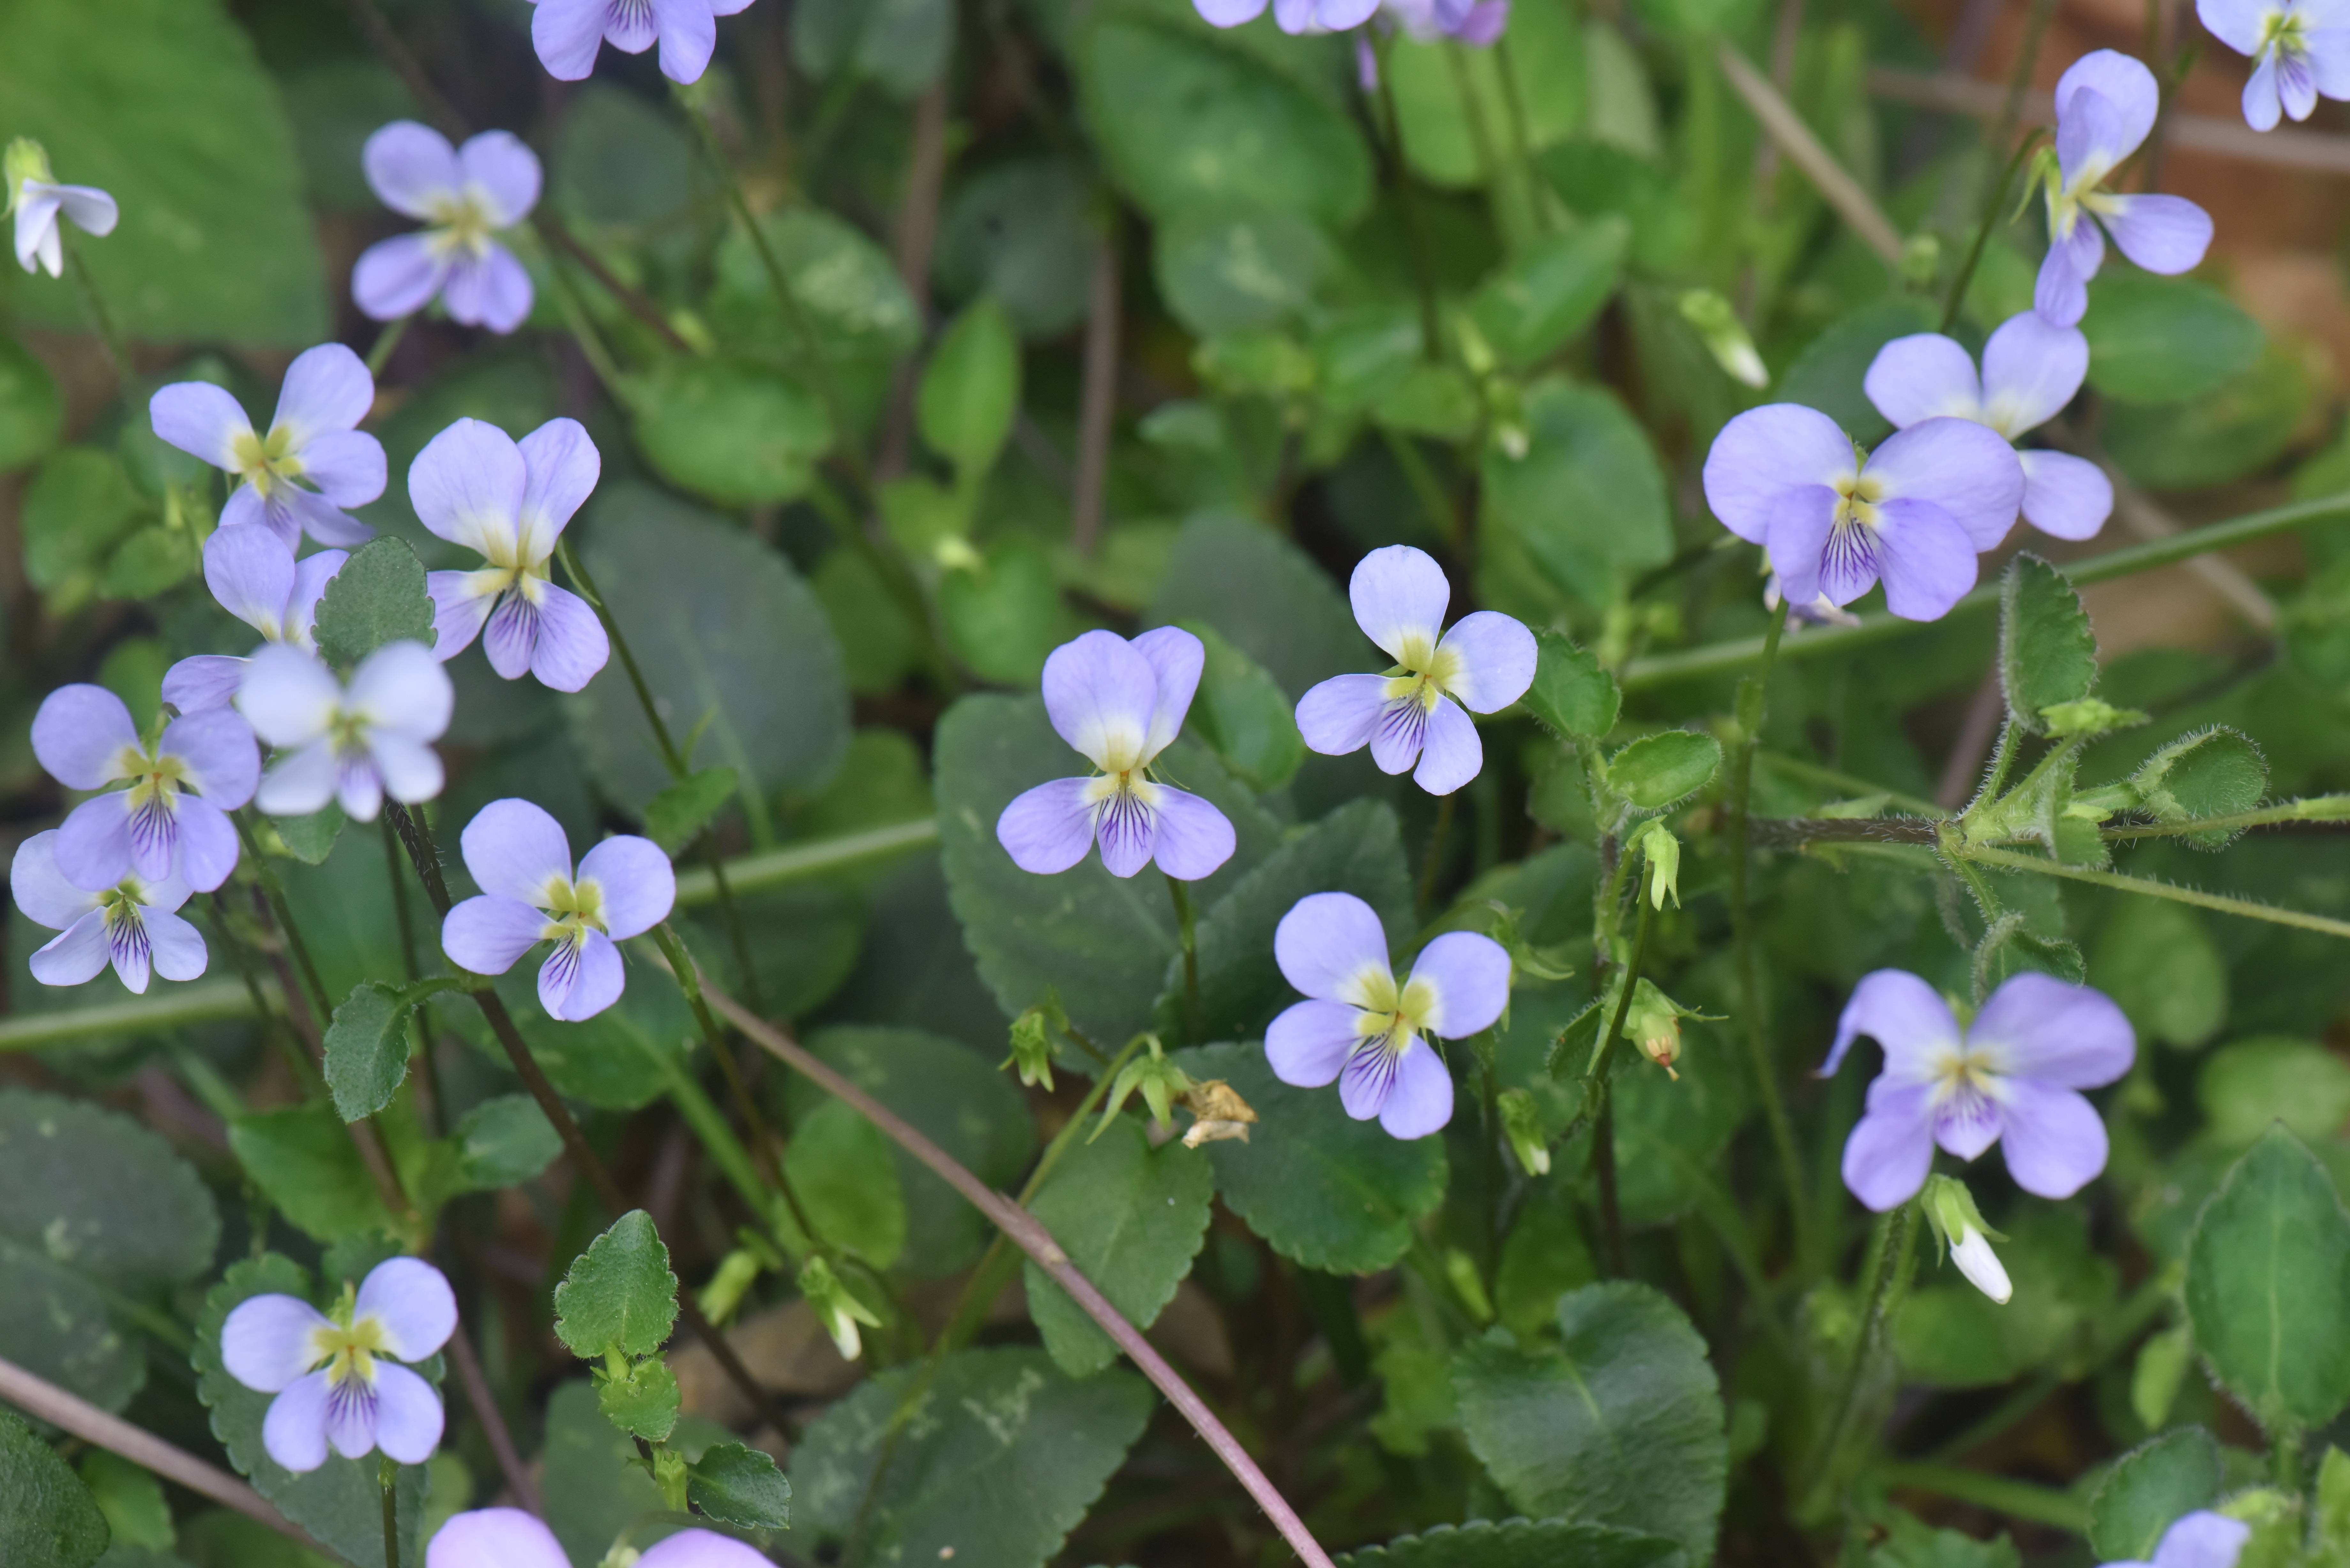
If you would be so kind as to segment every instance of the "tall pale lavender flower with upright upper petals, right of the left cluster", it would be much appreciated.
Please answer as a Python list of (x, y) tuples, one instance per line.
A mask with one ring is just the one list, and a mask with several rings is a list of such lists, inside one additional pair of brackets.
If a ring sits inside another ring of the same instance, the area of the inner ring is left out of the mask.
[(461, 418), (416, 454), (416, 517), (484, 559), (479, 571), (425, 578), (435, 658), (456, 658), (482, 637), (491, 670), (505, 679), (536, 675), (557, 691), (578, 691), (604, 668), (604, 623), (585, 599), (548, 581), (555, 541), (599, 473), (595, 442), (576, 418), (548, 421), (519, 444), (498, 425)]

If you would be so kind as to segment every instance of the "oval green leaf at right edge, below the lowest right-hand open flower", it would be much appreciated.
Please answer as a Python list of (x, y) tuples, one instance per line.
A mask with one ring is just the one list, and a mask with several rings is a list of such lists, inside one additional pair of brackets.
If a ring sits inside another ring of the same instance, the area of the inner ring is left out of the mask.
[(2350, 1215), (2282, 1126), (2195, 1222), (2186, 1305), (2195, 1347), (2270, 1432), (2322, 1427), (2350, 1403)]

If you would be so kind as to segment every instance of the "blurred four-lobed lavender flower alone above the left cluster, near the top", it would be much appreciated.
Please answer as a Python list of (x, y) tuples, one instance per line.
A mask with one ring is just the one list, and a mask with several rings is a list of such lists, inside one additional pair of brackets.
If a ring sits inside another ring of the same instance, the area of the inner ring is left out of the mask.
[(531, 275), (491, 240), (538, 205), (538, 155), (512, 132), (463, 148), (428, 125), (392, 120), (367, 139), (367, 183), (392, 212), (428, 228), (369, 244), (350, 296), (378, 322), (416, 315), (439, 294), (449, 320), (512, 331), (531, 315)]

